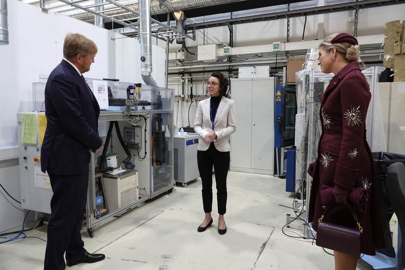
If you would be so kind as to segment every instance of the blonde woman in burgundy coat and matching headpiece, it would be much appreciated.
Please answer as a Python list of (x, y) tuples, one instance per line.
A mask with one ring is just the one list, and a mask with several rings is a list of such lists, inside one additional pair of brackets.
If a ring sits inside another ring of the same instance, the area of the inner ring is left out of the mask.
[[(336, 200), (324, 221), (355, 228), (347, 207), (351, 203), (364, 229), (362, 252), (375, 255), (374, 249), (383, 247), (384, 241), (374, 162), (365, 138), (371, 94), (360, 70), (357, 40), (346, 33), (327, 37), (320, 44), (319, 64), (322, 72), (335, 77), (321, 98), (318, 158), (308, 168), (313, 177), (309, 222), (317, 230), (318, 219)], [(336, 270), (356, 269), (358, 257), (336, 250), (334, 254)]]

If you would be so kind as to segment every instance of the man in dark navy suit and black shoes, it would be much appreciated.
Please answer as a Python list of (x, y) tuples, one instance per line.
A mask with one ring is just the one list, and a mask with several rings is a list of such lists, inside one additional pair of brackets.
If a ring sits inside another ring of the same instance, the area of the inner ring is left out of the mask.
[[(48, 224), (44, 270), (63, 270), (105, 258), (84, 249), (81, 224), (87, 200), (90, 151), (97, 153), (100, 107), (84, 72), (90, 70), (96, 44), (80, 34), (67, 34), (63, 60), (45, 86), (47, 126), (41, 147), (41, 170), (54, 192)], [(63, 254), (66, 252), (66, 264)]]

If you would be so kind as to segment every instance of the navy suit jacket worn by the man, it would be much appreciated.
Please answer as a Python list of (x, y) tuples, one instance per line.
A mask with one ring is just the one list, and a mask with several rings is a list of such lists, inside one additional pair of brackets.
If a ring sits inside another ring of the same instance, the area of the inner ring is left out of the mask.
[(46, 82), (45, 109), (41, 170), (56, 175), (86, 172), (90, 150), (102, 145), (98, 135), (100, 106), (77, 70), (64, 60)]

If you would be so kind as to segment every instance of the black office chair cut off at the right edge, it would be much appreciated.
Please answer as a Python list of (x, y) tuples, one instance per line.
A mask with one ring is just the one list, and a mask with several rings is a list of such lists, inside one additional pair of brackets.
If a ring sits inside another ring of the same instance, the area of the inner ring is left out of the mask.
[[(392, 208), (397, 215), (402, 233), (402, 246), (405, 243), (405, 166), (401, 162), (388, 166), (387, 181), (385, 182), (386, 192), (389, 196)], [(405, 249), (402, 249), (402, 262), (405, 264)]]

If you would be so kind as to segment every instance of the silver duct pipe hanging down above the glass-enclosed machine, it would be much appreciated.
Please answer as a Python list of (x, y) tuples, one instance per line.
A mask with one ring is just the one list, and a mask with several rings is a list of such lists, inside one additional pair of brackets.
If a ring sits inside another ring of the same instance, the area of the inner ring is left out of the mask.
[(158, 86), (152, 78), (152, 44), (150, 42), (150, 0), (139, 0), (141, 30), (141, 75), (147, 85)]

